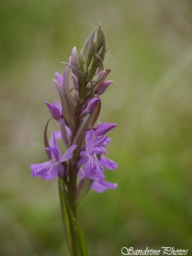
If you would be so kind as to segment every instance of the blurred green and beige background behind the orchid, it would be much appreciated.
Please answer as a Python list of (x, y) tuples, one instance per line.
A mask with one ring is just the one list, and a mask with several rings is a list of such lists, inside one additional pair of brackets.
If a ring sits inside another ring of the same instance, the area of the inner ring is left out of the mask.
[[(101, 122), (118, 123), (106, 179), (117, 191), (90, 191), (79, 222), (93, 256), (122, 247), (192, 253), (192, 2), (189, 0), (7, 0), (0, 8), (0, 255), (68, 255), (57, 180), (30, 177), (46, 160), (44, 100), (73, 46), (102, 23), (113, 84)], [(51, 123), (51, 129), (59, 129)]]

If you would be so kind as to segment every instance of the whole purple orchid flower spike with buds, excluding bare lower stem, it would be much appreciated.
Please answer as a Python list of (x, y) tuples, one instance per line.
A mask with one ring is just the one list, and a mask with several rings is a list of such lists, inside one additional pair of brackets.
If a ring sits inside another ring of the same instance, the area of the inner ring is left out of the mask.
[[(106, 133), (117, 125), (100, 123), (95, 126), (101, 108), (99, 96), (113, 82), (104, 82), (110, 73), (110, 69), (104, 70), (105, 53), (104, 33), (99, 24), (86, 40), (79, 55), (76, 48), (73, 48), (69, 63), (63, 63), (63, 75), (55, 73), (54, 82), (61, 103), (57, 100), (55, 104), (45, 103), (51, 117), (59, 123), (60, 130), (52, 131), (48, 142), (48, 121), (44, 131), (44, 144), (49, 161), (30, 166), (32, 177), (51, 180), (59, 176), (65, 181), (69, 191), (70, 186), (73, 186), (76, 195), (84, 189), (86, 180), (90, 182), (89, 189), (98, 193), (117, 188), (117, 184), (104, 181), (104, 168), (115, 170), (117, 164), (103, 156), (106, 154), (106, 145), (111, 140)], [(58, 139), (65, 145), (65, 154), (61, 153)]]

